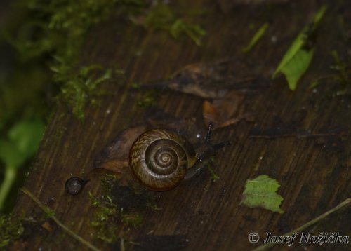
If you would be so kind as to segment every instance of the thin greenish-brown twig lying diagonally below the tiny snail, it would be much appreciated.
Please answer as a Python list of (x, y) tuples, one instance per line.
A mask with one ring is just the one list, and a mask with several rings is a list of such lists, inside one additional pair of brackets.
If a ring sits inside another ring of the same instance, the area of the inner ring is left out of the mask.
[(25, 187), (20, 188), (20, 191), (22, 191), (24, 194), (27, 194), (27, 196), (29, 196), (29, 198), (31, 198), (35, 203), (37, 203), (37, 205), (39, 205), (39, 208), (41, 208), (41, 210), (43, 210), (44, 212), (46, 212), (46, 214), (48, 215), (48, 217), (50, 217), (51, 219), (53, 219), (53, 221), (58, 224), (58, 226), (60, 226), (63, 231), (67, 232), (70, 236), (72, 236), (74, 239), (78, 240), (79, 243), (85, 245), (86, 247), (90, 248), (91, 250), (94, 251), (100, 251), (98, 249), (98, 247), (95, 247), (94, 245), (92, 245), (91, 243), (89, 243), (87, 240), (84, 240), (84, 238), (81, 238), (81, 236), (77, 235), (77, 233), (74, 233), (74, 231), (70, 230), (67, 228), (67, 226), (65, 226), (64, 224), (62, 224), (62, 222), (60, 222), (60, 220), (58, 220), (58, 218), (55, 217), (55, 215), (53, 215), (53, 210), (51, 210), (50, 208), (46, 207), (43, 203), (41, 203), (37, 197), (35, 197), (28, 189), (26, 189)]

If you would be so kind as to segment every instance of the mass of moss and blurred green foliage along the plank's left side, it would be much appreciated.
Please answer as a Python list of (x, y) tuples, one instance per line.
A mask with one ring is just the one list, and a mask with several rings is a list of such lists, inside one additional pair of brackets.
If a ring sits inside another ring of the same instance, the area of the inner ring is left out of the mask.
[(139, 0), (20, 0), (12, 4), (0, 23), (4, 55), (0, 59), (0, 167), (4, 170), (0, 210), (7, 212), (15, 202), (8, 193), (15, 195), (11, 186), (21, 185), (39, 146), (44, 132), (41, 121), (48, 118), (50, 104), (60, 100), (83, 119), (84, 105), (95, 88), (112, 76), (111, 69), (81, 63), (88, 30), (114, 11), (124, 15), (143, 7)]

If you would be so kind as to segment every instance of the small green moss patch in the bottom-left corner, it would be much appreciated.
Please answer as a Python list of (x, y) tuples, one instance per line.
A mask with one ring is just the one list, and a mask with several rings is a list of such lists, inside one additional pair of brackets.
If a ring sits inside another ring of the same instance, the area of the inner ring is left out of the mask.
[(23, 233), (19, 220), (11, 220), (11, 215), (0, 215), (0, 248), (17, 240)]

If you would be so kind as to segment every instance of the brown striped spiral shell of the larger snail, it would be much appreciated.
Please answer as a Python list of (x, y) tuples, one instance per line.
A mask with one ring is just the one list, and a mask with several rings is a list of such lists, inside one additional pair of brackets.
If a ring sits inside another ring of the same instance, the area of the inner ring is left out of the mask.
[(192, 144), (178, 133), (164, 129), (147, 130), (129, 152), (134, 176), (155, 191), (173, 189), (196, 161)]

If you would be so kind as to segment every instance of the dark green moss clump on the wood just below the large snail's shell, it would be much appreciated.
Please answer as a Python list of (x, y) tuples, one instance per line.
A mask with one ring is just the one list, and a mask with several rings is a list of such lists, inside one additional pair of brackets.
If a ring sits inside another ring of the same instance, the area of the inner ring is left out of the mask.
[(121, 186), (119, 179), (111, 176), (102, 179), (102, 190), (100, 196), (90, 194), (95, 208), (91, 224), (97, 230), (96, 238), (108, 244), (128, 239), (128, 233), (143, 226), (143, 212), (151, 206), (157, 208), (148, 191)]

